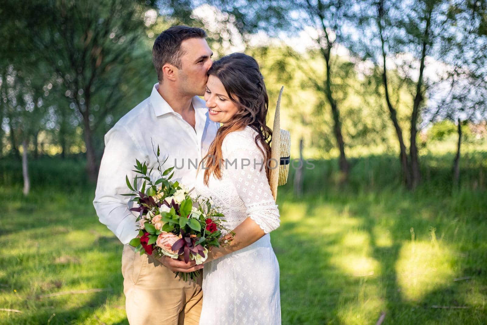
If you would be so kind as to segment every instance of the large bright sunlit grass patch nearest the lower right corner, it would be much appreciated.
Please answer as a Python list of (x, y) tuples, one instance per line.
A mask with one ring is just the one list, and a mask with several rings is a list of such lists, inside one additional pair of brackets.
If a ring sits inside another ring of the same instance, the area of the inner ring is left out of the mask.
[(420, 300), (453, 282), (453, 252), (432, 242), (405, 243), (396, 263), (397, 282), (406, 300)]

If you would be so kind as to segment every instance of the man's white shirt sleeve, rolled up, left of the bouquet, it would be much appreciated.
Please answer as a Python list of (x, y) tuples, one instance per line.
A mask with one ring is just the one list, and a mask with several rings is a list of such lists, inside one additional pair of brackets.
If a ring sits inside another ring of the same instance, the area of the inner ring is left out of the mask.
[(137, 235), (136, 216), (129, 210), (131, 196), (125, 176), (133, 180), (135, 159), (144, 161), (138, 144), (124, 127), (115, 127), (105, 135), (105, 151), (96, 184), (94, 208), (100, 222), (117, 238), (128, 244)]

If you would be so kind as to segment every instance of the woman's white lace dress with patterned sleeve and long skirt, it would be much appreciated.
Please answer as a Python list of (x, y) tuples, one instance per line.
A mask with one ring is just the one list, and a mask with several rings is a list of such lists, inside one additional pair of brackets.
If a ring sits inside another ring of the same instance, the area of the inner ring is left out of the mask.
[[(222, 179), (200, 171), (196, 190), (211, 197), (225, 214), (225, 227), (235, 229), (247, 217), (266, 233), (261, 239), (203, 269), (203, 309), (200, 325), (281, 324), (279, 264), (269, 232), (279, 227), (279, 210), (261, 169), (263, 156), (250, 127), (228, 134), (222, 144)], [(230, 165), (236, 159), (236, 164)], [(255, 164), (254, 164), (255, 161)], [(248, 165), (248, 166), (245, 166)]]

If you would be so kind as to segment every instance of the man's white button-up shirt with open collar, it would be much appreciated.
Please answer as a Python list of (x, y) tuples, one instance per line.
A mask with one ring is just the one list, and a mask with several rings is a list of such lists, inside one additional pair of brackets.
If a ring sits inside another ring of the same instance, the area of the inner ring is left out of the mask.
[[(192, 99), (195, 115), (193, 129), (178, 113), (175, 113), (154, 85), (150, 97), (124, 115), (105, 134), (105, 151), (101, 160), (96, 185), (94, 208), (100, 222), (112, 230), (123, 244), (128, 244), (137, 235), (138, 212), (129, 209), (130, 193), (125, 176), (132, 182), (135, 159), (146, 161), (148, 171), (154, 167), (153, 181), (157, 179), (157, 159), (153, 152), (160, 148), (159, 161), (163, 171), (175, 166), (172, 181), (178, 181), (190, 191), (194, 189), (197, 168), (213, 141), (219, 124), (208, 118), (205, 101), (195, 96)], [(154, 149), (152, 148), (152, 143)], [(139, 174), (140, 175), (140, 174)], [(138, 182), (138, 187), (142, 183)]]

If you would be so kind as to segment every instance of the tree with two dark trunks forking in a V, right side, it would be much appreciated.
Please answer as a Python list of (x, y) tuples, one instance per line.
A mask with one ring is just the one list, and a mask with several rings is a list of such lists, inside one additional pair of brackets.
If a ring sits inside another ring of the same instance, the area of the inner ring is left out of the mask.
[[(403, 182), (413, 189), (421, 179), (417, 133), (430, 85), (425, 67), (427, 58), (434, 57), (432, 51), (445, 30), (445, 3), (418, 0), (412, 5), (411, 2), (372, 0), (357, 1), (356, 5), (356, 29), (351, 33), (363, 30), (365, 35), (356, 40), (353, 50), (358, 57), (373, 62), (380, 74), (384, 101), (399, 144)], [(404, 78), (408, 89), (413, 89), (409, 155), (392, 100), (391, 92), (397, 91), (391, 89), (389, 82), (392, 70)]]

